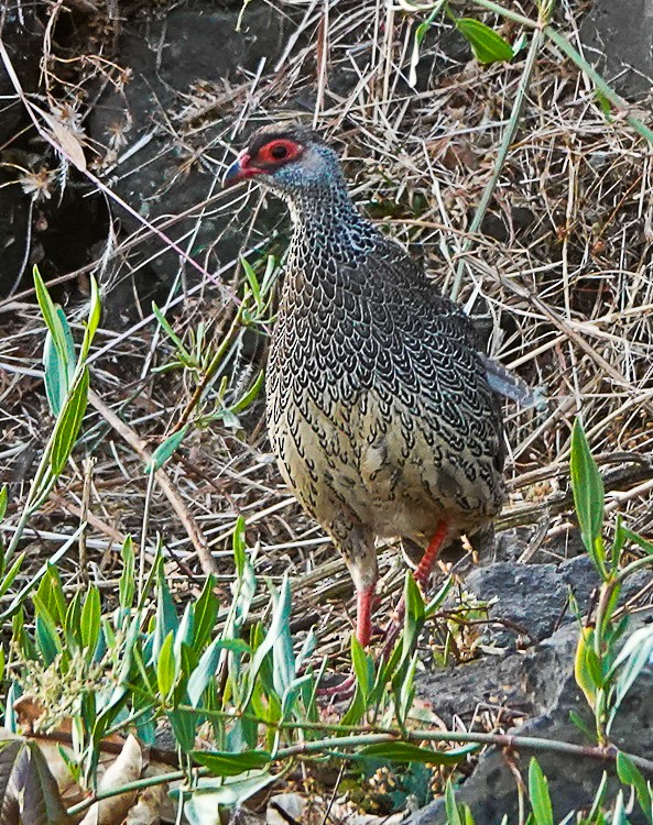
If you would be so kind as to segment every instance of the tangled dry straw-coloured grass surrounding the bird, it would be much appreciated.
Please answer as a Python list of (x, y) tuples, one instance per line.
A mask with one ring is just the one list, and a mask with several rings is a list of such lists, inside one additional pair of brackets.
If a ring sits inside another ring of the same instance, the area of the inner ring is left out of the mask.
[[(374, 0), (336, 3), (328, 19), (322, 3), (275, 6), (297, 16), (295, 35), (301, 32), (305, 45), (297, 47), (293, 35), (277, 70), (270, 67), (227, 90), (188, 90), (177, 111), (161, 112), (170, 151), (183, 147), (189, 164), (219, 175), (243, 132), (279, 117), (280, 109), (284, 117), (313, 121), (342, 152), (356, 200), (424, 258), (443, 289), (450, 288), (523, 63), (458, 64), (436, 35), (427, 41), (423, 59), (435, 57), (444, 73), (414, 91), (405, 81), (414, 15)], [(522, 11), (533, 13), (527, 3)], [(563, 11), (567, 21), (578, 22), (576, 8), (563, 3)], [(566, 25), (578, 46), (576, 24)], [(347, 82), (336, 82), (346, 76)], [(61, 85), (52, 84), (48, 94), (70, 99), (69, 88)], [(314, 110), (289, 110), (289, 101), (303, 94), (315, 101)], [(134, 148), (129, 133), (117, 143), (122, 140)], [(119, 174), (119, 157), (115, 146), (106, 147), (96, 163), (98, 174)], [(579, 411), (597, 452), (608, 454), (608, 461), (619, 453), (618, 464), (631, 457), (644, 468), (612, 501), (634, 529), (653, 530), (651, 160), (651, 146), (623, 121), (607, 121), (583, 76), (545, 50), (491, 207), (492, 234), (499, 240), (479, 234), (465, 255), (461, 299), (472, 312), (489, 316), (493, 355), (532, 385), (546, 387), (546, 409), (507, 408), (512, 498), (503, 522), (514, 521), (514, 512), (523, 516), (516, 520), (544, 524), (545, 551), (547, 536), (569, 524), (568, 499), (557, 502), (566, 491), (570, 427)], [(206, 202), (184, 216), (193, 221), (177, 241), (184, 250), (213, 213), (242, 221), (246, 248), (262, 240), (255, 224), (247, 224), (259, 217), (259, 208), (242, 209), (247, 197), (259, 197), (257, 191), (225, 194), (208, 177), (207, 191)], [(160, 229), (174, 234), (175, 220), (161, 221)], [(138, 273), (143, 263), (131, 256), (149, 237), (143, 228), (108, 239), (105, 253), (87, 268), (105, 277), (111, 273), (113, 279)], [(199, 266), (210, 270), (211, 261), (208, 250)], [(235, 271), (225, 267), (195, 287), (181, 278), (181, 298), (171, 292), (171, 300), (177, 298), (171, 317), (181, 337), (187, 339), (203, 320), (219, 340), (233, 314)], [(43, 329), (30, 296), (0, 302), (0, 463), (11, 484), (10, 512), (18, 513), (50, 426), (39, 361)], [(171, 581), (181, 590), (200, 585), (199, 558), (206, 569), (209, 548), (226, 586), (233, 572), (230, 535), (242, 515), (258, 573), (274, 580), (290, 571), (295, 581), (296, 629), (316, 622), (320, 651), (339, 649), (348, 636), (342, 628), (349, 579), (322, 531), (283, 488), (269, 454), (261, 403), (238, 431), (219, 422), (192, 431), (165, 466), (167, 485), (155, 484), (149, 498), (143, 455), (178, 419), (194, 385), (181, 371), (154, 372), (174, 352), (152, 318), (119, 334), (106, 330), (97, 341), (96, 402), (75, 461), (31, 525), (35, 561), (50, 556), (84, 517), (88, 574), (107, 597), (116, 586), (117, 550), (127, 534), (146, 552), (161, 537)], [(247, 383), (251, 371), (250, 356), (235, 348), (228, 367), (232, 383)], [(217, 403), (216, 393), (214, 385), (205, 409)], [(381, 552), (387, 592), (401, 582), (395, 558), (392, 549)], [(76, 558), (64, 560), (62, 570), (69, 586), (77, 586)]]

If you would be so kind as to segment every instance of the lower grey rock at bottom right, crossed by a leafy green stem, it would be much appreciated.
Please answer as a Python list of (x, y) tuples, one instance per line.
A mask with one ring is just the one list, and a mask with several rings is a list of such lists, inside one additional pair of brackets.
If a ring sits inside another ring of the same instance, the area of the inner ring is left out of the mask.
[[(631, 620), (630, 632), (652, 619), (651, 608), (638, 614)], [(454, 714), (469, 717), (478, 703), (503, 704), (512, 716), (530, 716), (525, 724), (512, 728), (511, 734), (587, 745), (585, 735), (569, 718), (574, 711), (589, 729), (592, 727), (591, 714), (574, 678), (577, 642), (578, 627), (568, 624), (525, 654), (487, 657), (453, 672), (421, 676), (417, 692), (431, 698), (435, 712), (445, 719)], [(617, 747), (639, 756), (649, 755), (651, 749), (652, 689), (653, 668), (649, 667), (631, 688), (611, 732)], [(531, 754), (522, 752), (516, 757), (523, 773)], [(603, 770), (610, 776), (608, 799), (617, 793), (618, 782), (607, 763), (553, 752), (538, 752), (537, 760), (548, 779), (556, 822), (569, 811), (591, 803)], [(514, 774), (500, 750), (490, 749), (480, 758), (471, 777), (457, 791), (457, 800), (471, 807), (476, 825), (494, 825), (503, 815), (508, 815), (510, 822), (516, 821), (519, 798)], [(629, 818), (633, 825), (644, 823), (639, 811)], [(442, 799), (404, 821), (410, 825), (444, 825), (446, 822)]]

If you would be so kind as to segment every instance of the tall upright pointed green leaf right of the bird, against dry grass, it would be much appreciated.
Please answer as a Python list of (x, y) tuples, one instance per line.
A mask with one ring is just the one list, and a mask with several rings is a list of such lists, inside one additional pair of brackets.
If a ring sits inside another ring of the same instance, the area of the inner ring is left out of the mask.
[(576, 517), (583, 541), (602, 579), (607, 576), (602, 554), (601, 531), (603, 526), (603, 481), (589, 450), (583, 425), (577, 418), (572, 432), (572, 488)]

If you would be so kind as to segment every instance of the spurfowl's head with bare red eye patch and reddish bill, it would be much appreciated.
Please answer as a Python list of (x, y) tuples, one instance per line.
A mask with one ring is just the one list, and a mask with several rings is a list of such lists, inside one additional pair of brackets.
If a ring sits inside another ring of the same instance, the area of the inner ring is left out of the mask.
[(338, 156), (324, 140), (301, 125), (258, 129), (225, 175), (225, 186), (253, 179), (286, 198), (318, 194), (342, 182)]

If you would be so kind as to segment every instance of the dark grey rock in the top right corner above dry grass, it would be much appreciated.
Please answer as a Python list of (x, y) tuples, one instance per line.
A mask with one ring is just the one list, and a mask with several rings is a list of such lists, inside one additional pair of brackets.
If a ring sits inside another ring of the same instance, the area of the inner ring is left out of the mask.
[(580, 26), (586, 55), (620, 95), (639, 99), (653, 86), (653, 0), (596, 0)]

